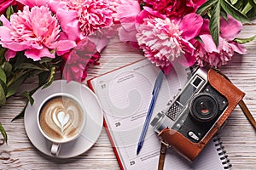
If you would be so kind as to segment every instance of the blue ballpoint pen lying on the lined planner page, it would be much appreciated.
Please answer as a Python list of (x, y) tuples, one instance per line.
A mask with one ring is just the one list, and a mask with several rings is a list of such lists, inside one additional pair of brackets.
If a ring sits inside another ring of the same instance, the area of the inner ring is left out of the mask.
[(150, 105), (149, 105), (148, 114), (147, 114), (146, 120), (144, 122), (141, 137), (140, 137), (139, 142), (137, 144), (137, 155), (143, 147), (144, 138), (145, 138), (145, 135), (146, 135), (147, 130), (148, 130), (148, 124), (149, 124), (150, 118), (151, 118), (152, 113), (153, 113), (154, 104), (155, 104), (157, 95), (159, 93), (163, 77), (164, 77), (164, 73), (163, 73), (163, 71), (160, 71), (160, 73), (158, 74), (158, 76), (157, 76), (157, 78), (154, 82), (154, 88), (153, 88), (153, 92), (152, 92), (152, 99), (151, 99), (151, 102), (150, 102)]

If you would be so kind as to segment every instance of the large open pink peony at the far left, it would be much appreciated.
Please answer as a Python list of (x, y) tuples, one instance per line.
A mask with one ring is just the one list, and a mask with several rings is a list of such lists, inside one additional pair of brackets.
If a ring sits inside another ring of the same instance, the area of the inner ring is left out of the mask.
[(76, 44), (69, 40), (58, 40), (60, 26), (58, 20), (51, 14), (49, 8), (41, 6), (31, 10), (25, 6), (24, 10), (12, 14), (10, 21), (3, 15), (0, 20), (0, 44), (9, 48), (5, 58), (15, 57), (15, 52), (25, 50), (27, 58), (39, 60), (42, 57), (55, 58), (57, 53), (73, 48)]

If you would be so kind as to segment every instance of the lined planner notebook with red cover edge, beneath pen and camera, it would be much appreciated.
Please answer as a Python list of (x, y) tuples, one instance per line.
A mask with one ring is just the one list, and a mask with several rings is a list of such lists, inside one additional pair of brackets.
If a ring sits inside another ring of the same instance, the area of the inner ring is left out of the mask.
[[(121, 169), (157, 169), (160, 140), (153, 127), (149, 125), (139, 155), (137, 142), (159, 71), (147, 59), (142, 59), (88, 81), (89, 87), (102, 104), (104, 126)], [(159, 111), (166, 109), (167, 102), (177, 94), (178, 89), (182, 88), (186, 81), (185, 68), (181, 65), (175, 66), (162, 82), (151, 119)], [(166, 154), (165, 169), (228, 169), (231, 165), (223, 148), (219, 139), (212, 139), (193, 163), (170, 148)]]

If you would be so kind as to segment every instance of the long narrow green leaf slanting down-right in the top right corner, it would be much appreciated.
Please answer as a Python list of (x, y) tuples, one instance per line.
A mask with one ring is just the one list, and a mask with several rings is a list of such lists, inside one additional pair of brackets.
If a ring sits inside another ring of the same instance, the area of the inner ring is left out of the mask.
[(220, 5), (224, 11), (233, 16), (236, 20), (241, 21), (241, 23), (251, 23), (246, 15), (241, 14), (241, 12), (231, 5), (227, 0), (220, 0)]

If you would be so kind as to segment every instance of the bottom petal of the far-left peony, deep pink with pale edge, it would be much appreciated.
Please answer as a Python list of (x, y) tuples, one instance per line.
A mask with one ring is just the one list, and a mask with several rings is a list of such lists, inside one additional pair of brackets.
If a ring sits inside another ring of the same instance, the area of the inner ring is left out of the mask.
[(34, 61), (40, 60), (43, 57), (49, 57), (49, 58), (55, 58), (54, 53), (49, 53), (48, 48), (43, 48), (43, 49), (27, 49), (25, 51), (25, 55), (27, 58), (33, 59)]

